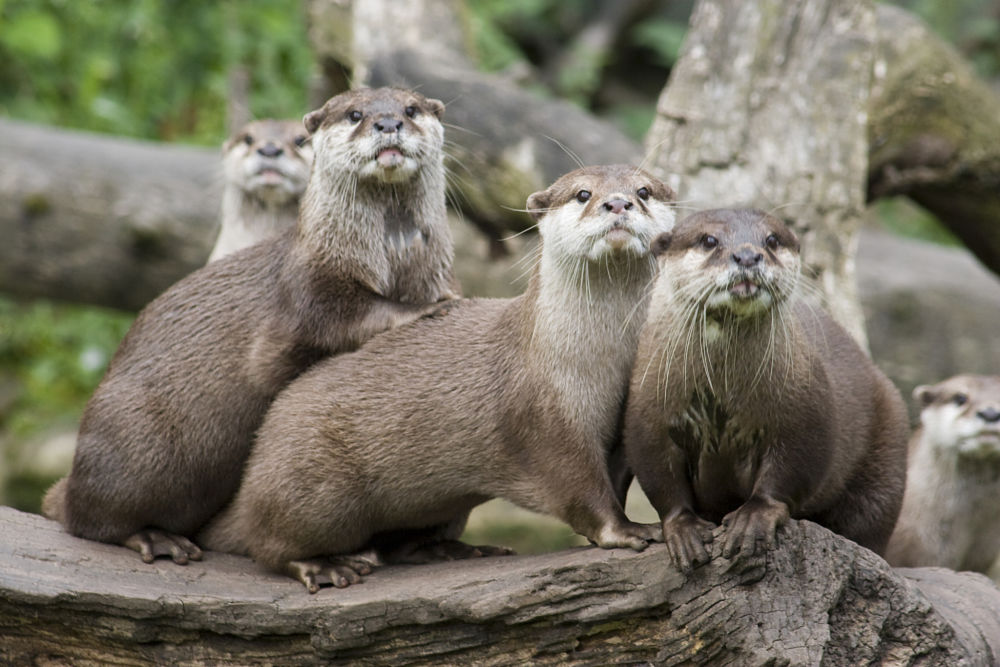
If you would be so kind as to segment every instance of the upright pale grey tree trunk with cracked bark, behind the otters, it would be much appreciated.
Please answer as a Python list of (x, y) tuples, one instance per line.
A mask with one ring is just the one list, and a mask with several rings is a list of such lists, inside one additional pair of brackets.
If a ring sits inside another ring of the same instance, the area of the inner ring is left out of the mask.
[(646, 137), (694, 206), (788, 219), (803, 272), (863, 345), (854, 252), (875, 39), (868, 0), (702, 0)]

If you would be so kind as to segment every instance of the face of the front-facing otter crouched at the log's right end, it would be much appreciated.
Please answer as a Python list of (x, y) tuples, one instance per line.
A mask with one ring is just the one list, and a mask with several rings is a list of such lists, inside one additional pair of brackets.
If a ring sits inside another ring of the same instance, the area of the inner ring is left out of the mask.
[(799, 242), (780, 220), (754, 209), (702, 211), (657, 238), (660, 280), (708, 312), (737, 318), (785, 301), (799, 279)]

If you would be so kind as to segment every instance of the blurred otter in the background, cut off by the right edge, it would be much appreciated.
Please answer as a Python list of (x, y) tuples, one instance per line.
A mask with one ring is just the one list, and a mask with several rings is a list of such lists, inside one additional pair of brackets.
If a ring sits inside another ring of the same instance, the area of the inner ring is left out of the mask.
[(1000, 377), (957, 375), (913, 392), (920, 425), (910, 439), (903, 509), (886, 560), (991, 570), (1000, 557)]

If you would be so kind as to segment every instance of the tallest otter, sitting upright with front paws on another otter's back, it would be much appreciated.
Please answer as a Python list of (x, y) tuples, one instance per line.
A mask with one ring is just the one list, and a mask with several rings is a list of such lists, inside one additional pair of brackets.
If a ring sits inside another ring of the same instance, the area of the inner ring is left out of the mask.
[(147, 562), (199, 558), (187, 538), (238, 488), (278, 390), (456, 296), (443, 109), (376, 89), (306, 115), (316, 160), (296, 229), (208, 264), (139, 314), (47, 516)]

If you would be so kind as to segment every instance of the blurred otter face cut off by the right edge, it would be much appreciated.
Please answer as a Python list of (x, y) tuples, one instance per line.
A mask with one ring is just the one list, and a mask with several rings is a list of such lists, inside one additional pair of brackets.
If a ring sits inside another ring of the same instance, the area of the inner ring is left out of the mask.
[(1000, 460), (1000, 377), (957, 375), (913, 391), (924, 437), (941, 452)]

